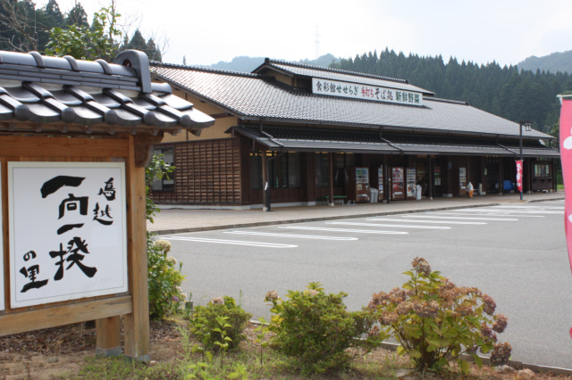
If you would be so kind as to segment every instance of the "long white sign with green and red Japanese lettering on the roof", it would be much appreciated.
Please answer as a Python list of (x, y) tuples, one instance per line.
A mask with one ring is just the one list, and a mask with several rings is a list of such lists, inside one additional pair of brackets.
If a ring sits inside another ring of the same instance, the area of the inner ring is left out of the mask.
[(421, 93), (321, 78), (312, 78), (312, 93), (373, 100), (376, 102), (423, 105), (423, 94)]

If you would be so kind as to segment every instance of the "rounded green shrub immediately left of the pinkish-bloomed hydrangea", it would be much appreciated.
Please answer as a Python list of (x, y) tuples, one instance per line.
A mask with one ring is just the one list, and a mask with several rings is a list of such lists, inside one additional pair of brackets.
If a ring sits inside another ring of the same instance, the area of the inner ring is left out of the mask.
[(273, 313), (269, 329), (273, 349), (292, 359), (304, 374), (343, 368), (349, 363), (345, 352), (359, 334), (357, 313), (346, 310), (346, 293), (326, 294), (319, 283), (303, 292), (289, 291), (289, 300), (278, 293), (266, 293)]

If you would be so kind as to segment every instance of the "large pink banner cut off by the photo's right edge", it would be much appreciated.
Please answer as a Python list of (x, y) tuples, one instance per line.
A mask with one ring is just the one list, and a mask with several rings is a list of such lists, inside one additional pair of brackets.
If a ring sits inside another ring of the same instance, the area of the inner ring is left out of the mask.
[(564, 180), (564, 229), (568, 246), (568, 259), (572, 268), (572, 99), (562, 99), (560, 108), (560, 161)]

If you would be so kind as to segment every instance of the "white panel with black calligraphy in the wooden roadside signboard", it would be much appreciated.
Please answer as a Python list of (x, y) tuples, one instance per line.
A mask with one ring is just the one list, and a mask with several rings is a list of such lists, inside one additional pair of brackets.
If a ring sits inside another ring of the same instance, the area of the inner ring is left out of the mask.
[(127, 292), (124, 163), (8, 170), (12, 308)]

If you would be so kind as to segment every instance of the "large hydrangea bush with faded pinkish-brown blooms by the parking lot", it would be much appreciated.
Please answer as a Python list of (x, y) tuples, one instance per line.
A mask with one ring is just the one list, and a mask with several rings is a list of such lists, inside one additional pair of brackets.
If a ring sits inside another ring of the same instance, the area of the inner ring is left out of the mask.
[(400, 354), (407, 352), (418, 371), (439, 370), (450, 359), (458, 359), (467, 373), (468, 364), (459, 355), (471, 355), (480, 367), (477, 349), (492, 351), (494, 365), (505, 364), (510, 345), (495, 344), (494, 332), (504, 331), (507, 318), (493, 314), (496, 304), (492, 298), (475, 287), (457, 287), (432, 271), (425, 259), (416, 258), (411, 265), (404, 273), (410, 279), (402, 288), (374, 294), (368, 305), (381, 331), (400, 343)]

